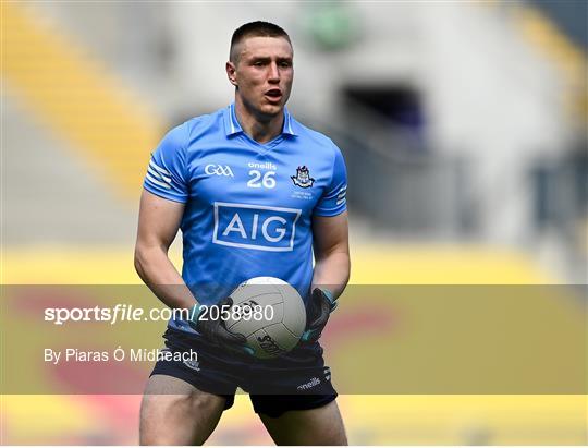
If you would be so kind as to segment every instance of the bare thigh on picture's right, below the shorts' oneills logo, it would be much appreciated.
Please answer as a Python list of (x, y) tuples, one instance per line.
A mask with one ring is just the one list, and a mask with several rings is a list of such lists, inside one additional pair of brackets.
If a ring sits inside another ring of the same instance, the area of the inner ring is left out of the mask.
[(278, 417), (259, 417), (277, 445), (347, 445), (341, 412), (333, 400), (304, 411), (287, 411)]

